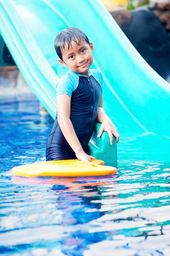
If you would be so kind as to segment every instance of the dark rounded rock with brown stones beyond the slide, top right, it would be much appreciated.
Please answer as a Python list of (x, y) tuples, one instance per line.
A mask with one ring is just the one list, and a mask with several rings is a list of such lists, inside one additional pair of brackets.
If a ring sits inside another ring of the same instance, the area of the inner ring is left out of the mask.
[(146, 62), (164, 79), (170, 76), (170, 2), (111, 15)]

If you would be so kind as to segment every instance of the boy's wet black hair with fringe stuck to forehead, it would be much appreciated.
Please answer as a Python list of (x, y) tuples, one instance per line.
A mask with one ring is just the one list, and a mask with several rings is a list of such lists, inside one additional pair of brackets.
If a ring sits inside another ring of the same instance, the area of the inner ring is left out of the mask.
[(81, 29), (78, 29), (76, 27), (68, 27), (60, 31), (60, 33), (57, 34), (54, 41), (55, 51), (57, 52), (59, 58), (63, 61), (62, 49), (64, 49), (66, 43), (68, 44), (69, 49), (72, 41), (79, 44), (81, 40), (84, 40), (88, 45), (90, 45), (90, 42), (86, 34), (84, 34), (84, 32)]

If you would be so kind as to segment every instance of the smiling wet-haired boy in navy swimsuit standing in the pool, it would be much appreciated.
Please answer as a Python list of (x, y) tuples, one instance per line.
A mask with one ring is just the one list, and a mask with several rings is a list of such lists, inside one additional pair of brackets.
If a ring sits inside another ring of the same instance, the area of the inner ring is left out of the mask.
[(102, 123), (99, 134), (107, 131), (110, 144), (119, 134), (102, 108), (103, 78), (99, 70), (89, 70), (93, 62), (93, 43), (75, 27), (62, 30), (55, 38), (59, 63), (69, 71), (56, 86), (57, 115), (47, 139), (46, 161), (80, 159), (91, 162), (86, 153), (96, 121)]

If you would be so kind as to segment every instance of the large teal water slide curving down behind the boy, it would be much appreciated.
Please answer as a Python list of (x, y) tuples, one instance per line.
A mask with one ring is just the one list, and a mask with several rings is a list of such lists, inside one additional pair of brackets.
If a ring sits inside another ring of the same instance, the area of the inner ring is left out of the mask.
[[(104, 75), (104, 110), (121, 135), (118, 159), (170, 161), (170, 85), (144, 61), (100, 1), (0, 0), (2, 38), (53, 119), (55, 85), (66, 72), (53, 43), (66, 27), (79, 27), (93, 42), (92, 67)], [(116, 144), (109, 145), (106, 132), (99, 139), (93, 135), (89, 145), (96, 158), (116, 160)]]

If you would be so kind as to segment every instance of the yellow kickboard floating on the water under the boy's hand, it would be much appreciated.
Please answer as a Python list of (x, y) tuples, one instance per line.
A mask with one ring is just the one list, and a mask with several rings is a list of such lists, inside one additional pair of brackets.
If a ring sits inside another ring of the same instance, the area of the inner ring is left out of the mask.
[(56, 160), (15, 166), (12, 174), (22, 177), (87, 177), (103, 176), (117, 172), (117, 168), (105, 166), (104, 161), (93, 159), (92, 162)]

